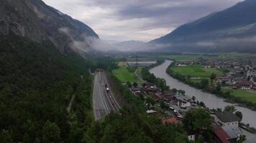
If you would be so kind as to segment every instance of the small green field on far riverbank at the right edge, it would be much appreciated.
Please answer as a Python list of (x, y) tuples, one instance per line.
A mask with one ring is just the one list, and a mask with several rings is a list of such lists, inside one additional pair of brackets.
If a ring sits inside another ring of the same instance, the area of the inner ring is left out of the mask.
[(248, 102), (256, 103), (256, 94), (242, 89), (222, 89), (223, 92), (230, 91), (234, 97), (242, 97), (242, 99), (246, 99)]

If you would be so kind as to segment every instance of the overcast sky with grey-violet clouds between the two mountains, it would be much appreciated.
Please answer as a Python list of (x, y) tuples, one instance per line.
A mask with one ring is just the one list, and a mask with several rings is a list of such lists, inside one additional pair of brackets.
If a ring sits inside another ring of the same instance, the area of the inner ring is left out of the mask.
[(43, 0), (109, 42), (150, 41), (242, 0)]

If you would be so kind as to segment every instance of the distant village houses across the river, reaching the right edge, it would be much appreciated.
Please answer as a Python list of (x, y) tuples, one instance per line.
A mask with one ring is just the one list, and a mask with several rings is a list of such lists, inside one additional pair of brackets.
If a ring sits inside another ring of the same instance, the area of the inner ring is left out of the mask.
[(221, 77), (216, 77), (214, 81), (220, 83), (222, 87), (230, 89), (253, 89), (256, 90), (256, 65), (253, 63), (242, 63), (238, 61), (219, 60), (192, 60), (178, 61), (177, 66), (201, 65), (204, 69), (215, 68), (223, 72)]

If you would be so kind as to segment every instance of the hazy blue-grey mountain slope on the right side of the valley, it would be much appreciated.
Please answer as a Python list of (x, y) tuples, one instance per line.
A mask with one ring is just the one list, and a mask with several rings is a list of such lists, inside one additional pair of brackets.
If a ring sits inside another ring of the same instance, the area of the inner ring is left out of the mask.
[(184, 24), (150, 41), (167, 51), (256, 51), (256, 1), (235, 6)]

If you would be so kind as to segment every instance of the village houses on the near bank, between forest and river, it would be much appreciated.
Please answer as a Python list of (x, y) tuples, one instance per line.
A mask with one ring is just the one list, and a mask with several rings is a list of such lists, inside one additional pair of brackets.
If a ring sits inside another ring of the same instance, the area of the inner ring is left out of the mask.
[[(159, 114), (163, 124), (183, 124), (182, 119), (191, 109), (204, 108), (211, 114), (211, 126), (213, 127), (213, 142), (227, 143), (238, 142), (240, 137), (247, 134), (241, 127), (242, 119), (233, 112), (224, 112), (219, 109), (208, 109), (203, 102), (198, 102), (196, 97), (186, 95), (182, 90), (169, 89), (163, 91), (150, 82), (142, 86), (129, 86), (132, 94), (145, 99), (147, 114)], [(188, 133), (188, 139), (195, 141), (195, 134)], [(250, 141), (247, 141), (250, 143)]]

